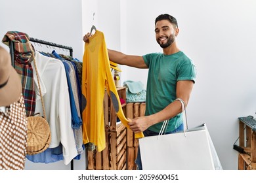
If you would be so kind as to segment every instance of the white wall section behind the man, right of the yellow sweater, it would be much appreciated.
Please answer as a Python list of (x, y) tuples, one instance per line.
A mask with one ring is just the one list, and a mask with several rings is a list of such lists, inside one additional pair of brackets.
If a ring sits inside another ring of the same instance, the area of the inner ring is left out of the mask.
[[(255, 1), (129, 0), (121, 1), (120, 10), (117, 0), (107, 8), (105, 1), (97, 3), (108, 48), (126, 54), (161, 52), (154, 20), (163, 13), (177, 18), (178, 45), (194, 60), (198, 72), (188, 105), (188, 125), (206, 123), (223, 169), (238, 169), (238, 153), (232, 149), (238, 138), (238, 117), (256, 110)], [(120, 18), (110, 12), (120, 13)], [(123, 80), (142, 80), (146, 86), (147, 70), (121, 69)]]

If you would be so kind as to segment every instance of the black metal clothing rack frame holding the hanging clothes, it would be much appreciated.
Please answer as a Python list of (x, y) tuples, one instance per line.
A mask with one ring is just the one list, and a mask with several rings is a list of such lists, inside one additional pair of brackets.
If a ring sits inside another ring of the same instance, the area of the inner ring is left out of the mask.
[[(70, 46), (64, 46), (61, 44), (56, 44), (54, 42), (49, 42), (49, 41), (43, 41), (41, 39), (35, 39), (33, 37), (30, 37), (30, 41), (32, 42), (37, 42), (39, 44), (45, 44), (45, 45), (49, 45), (49, 46), (54, 46), (54, 47), (58, 47), (58, 48), (64, 48), (66, 50), (70, 50), (70, 56), (73, 57), (73, 48)], [(14, 43), (11, 41), (10, 44), (10, 54), (11, 54), (11, 60), (12, 60), (12, 67), (14, 67)], [(70, 169), (74, 170), (74, 161), (72, 159), (72, 161), (70, 162)]]

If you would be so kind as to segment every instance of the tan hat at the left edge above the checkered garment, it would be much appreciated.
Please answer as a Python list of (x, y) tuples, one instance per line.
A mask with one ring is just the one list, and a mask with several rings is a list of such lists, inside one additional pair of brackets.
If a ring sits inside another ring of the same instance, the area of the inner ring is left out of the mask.
[(0, 107), (18, 101), (21, 93), (21, 79), (11, 65), (11, 55), (0, 46)]

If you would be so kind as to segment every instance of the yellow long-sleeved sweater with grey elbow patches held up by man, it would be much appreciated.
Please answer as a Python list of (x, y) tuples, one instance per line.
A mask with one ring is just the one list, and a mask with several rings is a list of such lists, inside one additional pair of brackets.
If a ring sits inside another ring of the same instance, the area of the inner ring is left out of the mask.
[[(106, 147), (104, 127), (104, 92), (108, 92), (116, 114), (125, 127), (129, 127), (127, 118), (123, 114), (114, 78), (110, 71), (110, 61), (104, 34), (96, 31), (85, 43), (83, 54), (82, 75), (82, 119), (83, 143), (93, 142), (98, 152)], [(135, 138), (144, 137), (143, 133), (136, 133)]]

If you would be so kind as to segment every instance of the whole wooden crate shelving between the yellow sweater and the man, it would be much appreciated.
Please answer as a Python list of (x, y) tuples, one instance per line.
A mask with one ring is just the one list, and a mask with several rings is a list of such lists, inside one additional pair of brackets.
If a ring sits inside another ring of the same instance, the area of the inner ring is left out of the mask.
[[(118, 87), (119, 98), (126, 100), (126, 88)], [(131, 129), (122, 122), (117, 123), (117, 115), (107, 92), (104, 95), (104, 125), (106, 148), (102, 152), (88, 152), (88, 169), (91, 170), (132, 170), (136, 169), (135, 159), (139, 149), (139, 140)], [(126, 118), (144, 116), (145, 103), (123, 103), (121, 105)]]

